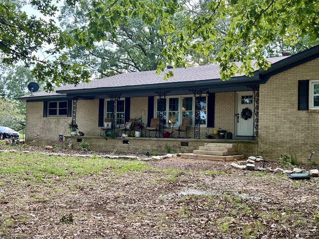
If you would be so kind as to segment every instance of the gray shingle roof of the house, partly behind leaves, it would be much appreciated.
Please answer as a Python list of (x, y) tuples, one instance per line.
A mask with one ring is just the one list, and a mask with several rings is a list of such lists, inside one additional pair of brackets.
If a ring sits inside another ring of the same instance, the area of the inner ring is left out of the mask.
[[(289, 56), (281, 56), (281, 57), (272, 57), (267, 58), (271, 64), (279, 62), (283, 59), (286, 59)], [(253, 68), (257, 71), (258, 69), (254, 66), (255, 61), (252, 61)], [(237, 66), (241, 66), (241, 63), (236, 62)], [(174, 76), (169, 78), (167, 81), (163, 79), (163, 76), (166, 72), (172, 71)], [(236, 74), (236, 77), (245, 77), (243, 74)], [(247, 77), (249, 79), (249, 77)], [(73, 84), (61, 86), (55, 89), (55, 92), (35, 92), (33, 96), (26, 95), (22, 96), (19, 99), (21, 100), (30, 100), (35, 98), (37, 100), (47, 99), (47, 98), (59, 98), (65, 97), (67, 93), (76, 92), (76, 91), (85, 91), (90, 92), (99, 89), (110, 89), (110, 88), (127, 88), (130, 87), (133, 89), (134, 87), (151, 87), (151, 86), (163, 86), (162, 84), (167, 83), (195, 83), (195, 82), (203, 82), (205, 80), (216, 80), (216, 82), (222, 83), (220, 80), (220, 69), (219, 64), (210, 64), (204, 66), (195, 66), (188, 68), (174, 68), (174, 69), (166, 69), (164, 72), (160, 73), (160, 75), (156, 74), (156, 71), (143, 71), (143, 72), (130, 72), (123, 73), (119, 75), (114, 75), (98, 80), (93, 80), (88, 83), (80, 83), (76, 86)], [(167, 86), (169, 87), (169, 86)]]

